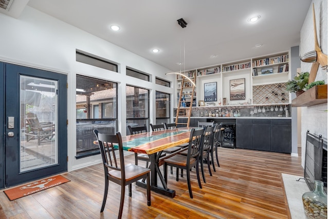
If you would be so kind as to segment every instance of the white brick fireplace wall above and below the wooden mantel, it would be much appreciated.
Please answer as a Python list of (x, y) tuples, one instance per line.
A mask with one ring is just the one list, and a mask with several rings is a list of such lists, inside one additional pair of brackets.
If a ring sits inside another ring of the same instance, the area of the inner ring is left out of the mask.
[[(322, 52), (328, 54), (328, 2), (327, 0), (314, 0), (316, 25), (318, 41)], [(314, 28), (313, 28), (313, 5), (311, 4), (304, 24), (301, 29), (300, 55), (306, 52), (313, 51), (314, 47)], [(310, 71), (312, 63), (301, 62), (302, 72)], [(315, 81), (325, 80), (327, 84), (327, 71), (322, 70), (321, 66), (318, 70)], [(302, 166), (304, 167), (305, 160), (305, 144), (306, 131), (327, 138), (327, 104), (319, 104), (310, 107), (301, 108), (301, 144), (302, 144)]]

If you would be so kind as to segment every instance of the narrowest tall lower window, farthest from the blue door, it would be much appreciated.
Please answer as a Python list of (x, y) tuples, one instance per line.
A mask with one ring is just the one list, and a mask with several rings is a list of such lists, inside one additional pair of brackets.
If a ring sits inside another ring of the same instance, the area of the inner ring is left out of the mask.
[(170, 120), (170, 94), (155, 92), (156, 124)]

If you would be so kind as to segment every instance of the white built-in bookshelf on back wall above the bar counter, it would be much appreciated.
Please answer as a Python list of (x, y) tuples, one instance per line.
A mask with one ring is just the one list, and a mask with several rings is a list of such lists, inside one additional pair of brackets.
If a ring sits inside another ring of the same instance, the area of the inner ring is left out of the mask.
[[(184, 74), (192, 80), (196, 77), (197, 86), (193, 102), (204, 101), (205, 106), (244, 105), (250, 104), (250, 102), (251, 104), (288, 104), (291, 102), (289, 93), (283, 90), (285, 89), (284, 83), (291, 77), (289, 64), (289, 51), (286, 51), (197, 68), (186, 71)], [(245, 84), (243, 99), (231, 98), (231, 82), (233, 83), (236, 80)], [(181, 88), (181, 82), (182, 76), (177, 75), (177, 92)], [(208, 83), (216, 83), (217, 98), (213, 103), (209, 103), (208, 99), (206, 100), (204, 97), (204, 89)], [(273, 84), (281, 86), (281, 91), (274, 91), (273, 89), (277, 87)], [(188, 84), (185, 84), (185, 86), (189, 87)], [(188, 90), (184, 97), (187, 102), (192, 102), (188, 99), (189, 92)], [(282, 96), (282, 93), (285, 93), (284, 96)]]

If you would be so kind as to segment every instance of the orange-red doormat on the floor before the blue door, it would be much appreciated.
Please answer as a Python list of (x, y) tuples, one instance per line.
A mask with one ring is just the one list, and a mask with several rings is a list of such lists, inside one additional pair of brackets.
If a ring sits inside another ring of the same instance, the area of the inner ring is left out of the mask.
[(9, 200), (13, 201), (17, 198), (24, 197), (35, 192), (40, 192), (42, 190), (49, 189), (51, 187), (58, 186), (67, 182), (70, 182), (70, 180), (67, 180), (67, 178), (61, 175), (56, 175), (45, 178), (43, 180), (28, 183), (23, 186), (17, 186), (12, 189), (7, 189), (4, 192), (9, 198)]

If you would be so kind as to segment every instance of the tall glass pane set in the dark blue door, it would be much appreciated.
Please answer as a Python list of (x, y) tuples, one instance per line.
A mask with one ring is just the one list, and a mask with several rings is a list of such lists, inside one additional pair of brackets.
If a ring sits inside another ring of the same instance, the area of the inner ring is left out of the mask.
[(20, 172), (58, 164), (58, 82), (20, 76)]

